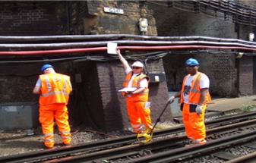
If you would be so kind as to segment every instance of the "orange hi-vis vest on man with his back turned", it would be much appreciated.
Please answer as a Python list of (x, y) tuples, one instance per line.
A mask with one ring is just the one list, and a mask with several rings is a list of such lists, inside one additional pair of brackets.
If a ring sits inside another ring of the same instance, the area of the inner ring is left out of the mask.
[(68, 104), (69, 93), (71, 92), (70, 77), (52, 73), (40, 75), (40, 79), (42, 81), (40, 105)]

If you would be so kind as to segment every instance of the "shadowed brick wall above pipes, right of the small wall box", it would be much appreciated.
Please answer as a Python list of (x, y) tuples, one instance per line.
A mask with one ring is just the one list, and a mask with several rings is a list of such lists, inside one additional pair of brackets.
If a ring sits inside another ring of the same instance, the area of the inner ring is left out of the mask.
[(214, 36), (235, 38), (235, 24), (231, 20), (206, 17), (175, 8), (149, 3), (156, 19), (159, 36)]

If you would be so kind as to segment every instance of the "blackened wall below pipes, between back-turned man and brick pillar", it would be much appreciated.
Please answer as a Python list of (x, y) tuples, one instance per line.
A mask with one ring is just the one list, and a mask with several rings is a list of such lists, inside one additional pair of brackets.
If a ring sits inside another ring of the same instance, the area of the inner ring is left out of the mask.
[(73, 93), (70, 100), (72, 124), (83, 123), (95, 130), (106, 131), (96, 62), (74, 62), (71, 74), (73, 77)]

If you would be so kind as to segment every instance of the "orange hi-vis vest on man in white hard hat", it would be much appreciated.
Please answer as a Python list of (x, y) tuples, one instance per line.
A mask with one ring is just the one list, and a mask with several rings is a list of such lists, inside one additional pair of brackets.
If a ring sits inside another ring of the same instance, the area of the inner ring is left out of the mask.
[[(128, 83), (129, 81), (131, 80), (131, 77), (133, 75), (133, 72), (129, 72), (126, 77), (125, 77), (125, 82), (123, 83), (123, 86), (127, 87), (128, 86)], [(132, 84), (131, 84), (131, 87), (134, 87), (134, 88), (140, 88), (140, 82), (141, 80), (143, 80), (144, 78), (147, 78), (147, 82), (149, 83), (150, 82), (150, 78), (147, 77), (147, 75), (144, 75), (144, 74), (138, 74), (136, 77), (134, 77), (134, 79), (132, 80)], [(137, 93), (137, 94), (133, 94), (131, 96), (132, 99), (134, 99), (134, 101), (138, 101), (138, 102), (147, 102), (148, 100), (148, 93), (149, 93), (149, 89), (148, 88), (145, 88), (144, 89), (144, 92), (141, 92), (141, 93)], [(125, 92), (122, 92), (122, 96), (125, 96)]]

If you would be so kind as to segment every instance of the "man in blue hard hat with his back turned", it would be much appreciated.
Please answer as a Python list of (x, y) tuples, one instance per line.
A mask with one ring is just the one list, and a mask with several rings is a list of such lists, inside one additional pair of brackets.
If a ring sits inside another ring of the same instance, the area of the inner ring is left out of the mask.
[(44, 145), (53, 148), (54, 120), (62, 136), (62, 143), (67, 146), (71, 143), (71, 128), (68, 123), (68, 99), (72, 91), (70, 77), (57, 74), (51, 64), (41, 68), (42, 75), (36, 82), (33, 93), (40, 94), (40, 123), (43, 128)]

